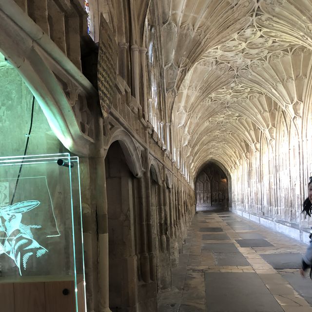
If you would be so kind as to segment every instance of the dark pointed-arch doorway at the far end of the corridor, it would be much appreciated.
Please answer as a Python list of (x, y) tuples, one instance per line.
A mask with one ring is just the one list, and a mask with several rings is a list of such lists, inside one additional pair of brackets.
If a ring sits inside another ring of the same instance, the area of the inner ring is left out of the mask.
[(214, 162), (199, 171), (195, 180), (196, 212), (229, 207), (229, 180), (225, 172)]

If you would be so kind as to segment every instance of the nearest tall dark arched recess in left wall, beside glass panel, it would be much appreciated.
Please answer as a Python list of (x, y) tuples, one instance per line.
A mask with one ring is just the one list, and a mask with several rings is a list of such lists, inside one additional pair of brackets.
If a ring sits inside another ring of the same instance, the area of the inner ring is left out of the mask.
[(118, 141), (105, 157), (109, 308), (112, 312), (137, 311), (136, 183)]

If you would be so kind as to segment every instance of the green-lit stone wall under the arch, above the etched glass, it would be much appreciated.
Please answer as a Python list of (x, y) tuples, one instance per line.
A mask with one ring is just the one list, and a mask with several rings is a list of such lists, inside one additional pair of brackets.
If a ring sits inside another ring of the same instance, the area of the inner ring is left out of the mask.
[[(19, 73), (0, 55), (0, 156), (23, 155), (29, 132), (33, 95)], [(35, 100), (27, 154), (59, 153), (61, 144)]]

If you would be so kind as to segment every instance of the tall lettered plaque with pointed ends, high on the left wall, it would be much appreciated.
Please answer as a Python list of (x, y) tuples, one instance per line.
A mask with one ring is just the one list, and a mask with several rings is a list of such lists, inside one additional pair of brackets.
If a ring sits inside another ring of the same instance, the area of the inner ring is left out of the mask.
[(112, 107), (116, 92), (118, 46), (114, 34), (101, 15), (98, 44), (98, 96), (103, 117)]

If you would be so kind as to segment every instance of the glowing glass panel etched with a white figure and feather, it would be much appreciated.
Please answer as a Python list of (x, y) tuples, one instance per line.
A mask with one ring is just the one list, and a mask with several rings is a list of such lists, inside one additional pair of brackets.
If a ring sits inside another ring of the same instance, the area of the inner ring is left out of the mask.
[(74, 281), (78, 311), (83, 263), (78, 157), (0, 157), (0, 282)]

